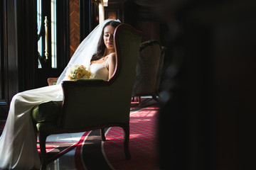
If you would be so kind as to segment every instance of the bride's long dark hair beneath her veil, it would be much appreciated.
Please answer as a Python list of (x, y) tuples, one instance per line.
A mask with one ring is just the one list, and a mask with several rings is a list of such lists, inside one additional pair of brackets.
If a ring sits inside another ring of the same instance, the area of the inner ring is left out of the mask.
[(117, 28), (117, 26), (119, 25), (120, 23), (117, 22), (117, 21), (110, 21), (110, 22), (107, 22), (105, 24), (105, 26), (103, 27), (102, 29), (102, 35), (100, 36), (100, 40), (97, 44), (97, 52), (92, 55), (92, 59), (91, 59), (91, 62), (94, 61), (94, 60), (99, 60), (100, 58), (103, 57), (104, 55), (104, 52), (105, 52), (105, 48), (106, 48), (106, 45), (104, 43), (104, 40), (103, 40), (103, 35), (104, 35), (104, 28), (106, 26), (112, 26), (113, 28)]

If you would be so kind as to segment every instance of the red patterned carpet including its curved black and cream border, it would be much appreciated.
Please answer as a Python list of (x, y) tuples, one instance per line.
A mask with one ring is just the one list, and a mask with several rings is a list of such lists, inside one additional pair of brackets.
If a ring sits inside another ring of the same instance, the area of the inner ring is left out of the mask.
[(157, 166), (156, 119), (159, 108), (142, 108), (130, 116), (129, 151), (124, 157), (123, 130), (113, 127), (106, 131), (102, 142), (99, 130), (85, 132), (75, 151), (77, 169), (159, 169)]

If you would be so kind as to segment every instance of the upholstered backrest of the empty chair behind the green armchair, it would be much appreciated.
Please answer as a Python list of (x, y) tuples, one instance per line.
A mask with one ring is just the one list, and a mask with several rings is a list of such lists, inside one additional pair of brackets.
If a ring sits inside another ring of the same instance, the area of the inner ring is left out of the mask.
[(160, 59), (161, 44), (158, 40), (142, 43), (132, 92), (134, 96), (150, 95), (156, 92)]

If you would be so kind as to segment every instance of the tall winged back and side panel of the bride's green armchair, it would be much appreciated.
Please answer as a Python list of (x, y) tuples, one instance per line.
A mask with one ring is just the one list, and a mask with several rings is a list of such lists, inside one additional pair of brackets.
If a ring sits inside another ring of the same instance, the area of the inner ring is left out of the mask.
[(117, 65), (112, 79), (63, 82), (67, 98), (63, 102), (62, 128), (75, 130), (129, 123), (141, 40), (141, 32), (127, 24), (119, 25), (114, 31)]

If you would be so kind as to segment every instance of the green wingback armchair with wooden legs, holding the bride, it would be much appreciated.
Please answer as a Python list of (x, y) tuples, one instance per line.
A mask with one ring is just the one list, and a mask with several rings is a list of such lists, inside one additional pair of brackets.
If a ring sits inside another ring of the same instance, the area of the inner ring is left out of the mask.
[(46, 169), (48, 135), (119, 126), (124, 130), (124, 153), (129, 159), (129, 111), (142, 33), (127, 24), (114, 31), (116, 69), (109, 81), (63, 81), (63, 101), (41, 103), (32, 110), (39, 137), (41, 169)]

